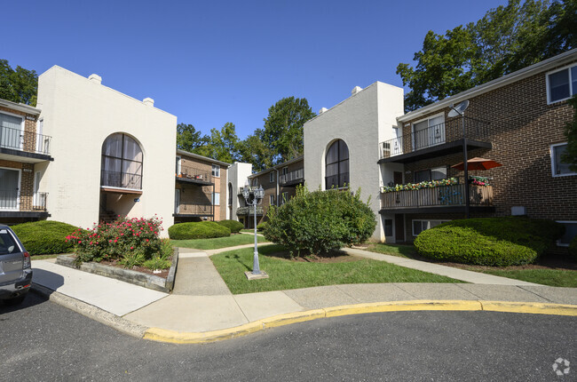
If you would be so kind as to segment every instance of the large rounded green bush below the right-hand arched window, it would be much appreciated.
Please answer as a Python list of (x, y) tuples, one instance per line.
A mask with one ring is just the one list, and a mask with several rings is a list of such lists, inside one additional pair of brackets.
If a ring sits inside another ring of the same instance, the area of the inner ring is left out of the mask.
[(286, 246), (292, 255), (322, 254), (362, 243), (373, 234), (375, 213), (360, 200), (360, 190), (314, 191), (296, 187), (296, 195), (268, 212), (265, 238)]

